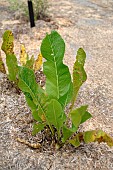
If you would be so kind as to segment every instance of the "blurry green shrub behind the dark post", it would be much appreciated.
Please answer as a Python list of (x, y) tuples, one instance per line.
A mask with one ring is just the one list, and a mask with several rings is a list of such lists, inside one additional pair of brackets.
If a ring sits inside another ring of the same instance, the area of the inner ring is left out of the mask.
[[(29, 20), (29, 12), (27, 0), (8, 0), (11, 11), (17, 11), (18, 17), (24, 16), (26, 20)], [(37, 19), (45, 19), (48, 15), (48, 0), (32, 0), (34, 17)]]

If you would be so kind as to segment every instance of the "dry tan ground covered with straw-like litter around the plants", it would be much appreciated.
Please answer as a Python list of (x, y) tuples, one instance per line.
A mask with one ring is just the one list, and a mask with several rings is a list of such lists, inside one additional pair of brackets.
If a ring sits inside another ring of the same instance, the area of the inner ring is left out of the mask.
[[(83, 47), (87, 53), (85, 64), (88, 79), (80, 90), (76, 106), (89, 105), (93, 118), (80, 130), (102, 129), (113, 136), (113, 2), (110, 0), (50, 0), (51, 22), (37, 21), (36, 27), (14, 18), (9, 4), (0, 2), (0, 45), (2, 34), (11, 29), (15, 36), (15, 53), (19, 56), (20, 43), (29, 54), (37, 56), (41, 40), (56, 29), (66, 42), (64, 62), (72, 71), (76, 51)], [(2, 53), (4, 57), (4, 54)], [(30, 142), (31, 113), (22, 94), (0, 73), (0, 170), (112, 170), (113, 149), (106, 144), (92, 143), (74, 149), (64, 147), (51, 150), (47, 145), (33, 150), (18, 143), (16, 137)]]

